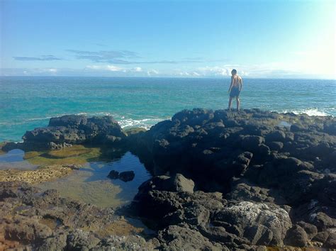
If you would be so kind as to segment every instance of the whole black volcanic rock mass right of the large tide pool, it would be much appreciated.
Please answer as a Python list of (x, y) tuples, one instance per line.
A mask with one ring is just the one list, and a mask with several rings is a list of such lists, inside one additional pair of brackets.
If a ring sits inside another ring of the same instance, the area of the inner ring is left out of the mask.
[[(133, 207), (163, 231), (162, 247), (189, 238), (165, 234), (182, 225), (229, 249), (284, 242), (304, 247), (312, 238), (333, 247), (334, 129), (332, 117), (258, 109), (181, 111), (136, 135), (133, 151), (153, 173), (170, 177), (142, 184)], [(172, 189), (176, 174), (192, 179), (193, 193)], [(211, 206), (197, 197), (200, 190)], [(213, 191), (226, 200), (210, 200)]]

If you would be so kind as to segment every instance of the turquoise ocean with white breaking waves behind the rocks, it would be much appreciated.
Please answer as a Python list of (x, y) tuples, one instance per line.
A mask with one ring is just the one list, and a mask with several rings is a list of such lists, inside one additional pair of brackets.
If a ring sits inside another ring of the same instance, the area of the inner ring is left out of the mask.
[[(185, 108), (228, 107), (230, 79), (0, 77), (0, 142), (65, 114), (111, 115), (145, 127)], [(336, 81), (244, 79), (242, 108), (336, 116)], [(235, 108), (235, 101), (233, 102)]]

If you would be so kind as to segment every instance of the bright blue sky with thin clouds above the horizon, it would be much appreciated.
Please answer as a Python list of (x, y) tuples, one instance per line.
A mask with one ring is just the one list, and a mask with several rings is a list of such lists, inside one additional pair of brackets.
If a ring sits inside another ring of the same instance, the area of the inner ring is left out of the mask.
[(336, 1), (0, 0), (0, 75), (336, 79)]

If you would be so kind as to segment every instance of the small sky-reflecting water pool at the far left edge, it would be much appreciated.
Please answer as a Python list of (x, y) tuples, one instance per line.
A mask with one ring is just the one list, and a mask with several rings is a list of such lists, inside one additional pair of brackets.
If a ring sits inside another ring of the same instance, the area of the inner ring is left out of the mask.
[(25, 152), (20, 149), (10, 150), (9, 152), (0, 155), (0, 170), (4, 169), (21, 169), (21, 170), (33, 170), (38, 168), (35, 164), (30, 164), (23, 157)]

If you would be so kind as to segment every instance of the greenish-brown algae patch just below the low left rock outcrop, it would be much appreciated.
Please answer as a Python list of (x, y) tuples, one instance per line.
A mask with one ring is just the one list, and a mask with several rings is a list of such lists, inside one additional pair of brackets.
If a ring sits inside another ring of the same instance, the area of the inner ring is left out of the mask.
[(45, 167), (51, 164), (78, 164), (83, 165), (92, 160), (98, 160), (101, 156), (99, 147), (85, 147), (74, 145), (62, 150), (50, 150), (47, 152), (26, 152), (23, 157), (30, 164)]

